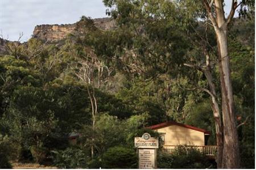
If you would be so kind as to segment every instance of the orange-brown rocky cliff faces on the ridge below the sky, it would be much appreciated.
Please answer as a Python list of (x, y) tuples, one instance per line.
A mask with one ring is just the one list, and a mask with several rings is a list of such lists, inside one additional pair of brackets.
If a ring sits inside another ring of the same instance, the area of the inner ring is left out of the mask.
[[(114, 20), (110, 18), (93, 19), (94, 25), (102, 30), (112, 29), (114, 27)], [(33, 37), (46, 41), (59, 41), (64, 39), (69, 33), (76, 29), (75, 24), (61, 24), (61, 25), (36, 25), (33, 31)]]

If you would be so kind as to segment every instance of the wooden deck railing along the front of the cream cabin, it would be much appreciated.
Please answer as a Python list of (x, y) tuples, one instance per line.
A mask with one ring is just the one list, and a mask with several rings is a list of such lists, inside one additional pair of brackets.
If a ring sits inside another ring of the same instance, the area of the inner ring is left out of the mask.
[[(178, 145), (164, 145), (163, 151), (172, 153), (177, 146)], [(207, 145), (206, 146), (179, 145), (179, 146), (185, 147), (185, 148), (195, 148), (207, 156), (214, 156), (217, 152), (217, 146), (210, 146), (210, 145), (208, 145), (208, 146)]]

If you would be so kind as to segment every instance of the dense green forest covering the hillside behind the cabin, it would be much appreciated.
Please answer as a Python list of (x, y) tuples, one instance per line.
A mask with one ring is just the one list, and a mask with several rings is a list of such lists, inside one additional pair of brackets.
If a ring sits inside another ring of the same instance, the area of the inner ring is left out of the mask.
[[(82, 16), (79, 29), (60, 41), (2, 43), (1, 168), (9, 166), (5, 159), (60, 168), (137, 168), (136, 162), (109, 167), (113, 147), (125, 147), (114, 151), (132, 159), (134, 137), (166, 121), (206, 129), (212, 133), (208, 145), (216, 145), (207, 77), (189, 67), (206, 62), (203, 46), (221, 96), (213, 28), (203, 21), (187, 24), (175, 12), (162, 18), (161, 12), (155, 18), (112, 14), (117, 27), (106, 30)], [(254, 14), (234, 19), (229, 31), (241, 166), (254, 168)], [(68, 142), (72, 133), (80, 135), (76, 145)], [(209, 167), (200, 165), (195, 167)]]

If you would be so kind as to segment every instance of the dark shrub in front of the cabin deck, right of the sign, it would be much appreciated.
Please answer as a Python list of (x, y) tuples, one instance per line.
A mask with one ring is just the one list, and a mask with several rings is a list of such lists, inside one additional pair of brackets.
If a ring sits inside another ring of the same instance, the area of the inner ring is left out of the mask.
[(158, 154), (158, 168), (174, 168), (174, 169), (202, 169), (214, 168), (207, 159), (207, 156), (201, 154), (195, 148), (179, 146), (172, 154)]

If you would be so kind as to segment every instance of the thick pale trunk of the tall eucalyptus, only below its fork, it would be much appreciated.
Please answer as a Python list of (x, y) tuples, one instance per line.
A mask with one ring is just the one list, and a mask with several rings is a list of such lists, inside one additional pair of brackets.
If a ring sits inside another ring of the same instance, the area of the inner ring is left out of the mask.
[(216, 31), (224, 132), (221, 168), (240, 168), (240, 152), (238, 147), (236, 117), (234, 113), (232, 82), (229, 68), (227, 29), (228, 27), (226, 25), (222, 25), (221, 29)]

